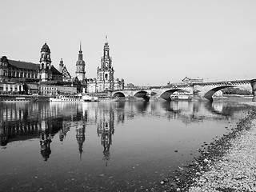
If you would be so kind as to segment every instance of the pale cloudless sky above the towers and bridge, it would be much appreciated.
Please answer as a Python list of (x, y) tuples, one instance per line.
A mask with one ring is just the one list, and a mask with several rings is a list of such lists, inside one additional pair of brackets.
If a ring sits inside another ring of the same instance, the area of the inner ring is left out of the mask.
[(72, 76), (80, 41), (86, 78), (96, 78), (107, 41), (114, 78), (163, 86), (256, 78), (254, 0), (1, 0), (0, 56), (52, 65)]

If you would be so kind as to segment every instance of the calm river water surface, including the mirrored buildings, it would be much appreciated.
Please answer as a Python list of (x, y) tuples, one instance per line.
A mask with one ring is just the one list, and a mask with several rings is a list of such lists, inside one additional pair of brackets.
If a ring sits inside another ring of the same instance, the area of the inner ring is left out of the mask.
[(0, 191), (162, 191), (247, 113), (229, 102), (0, 103)]

